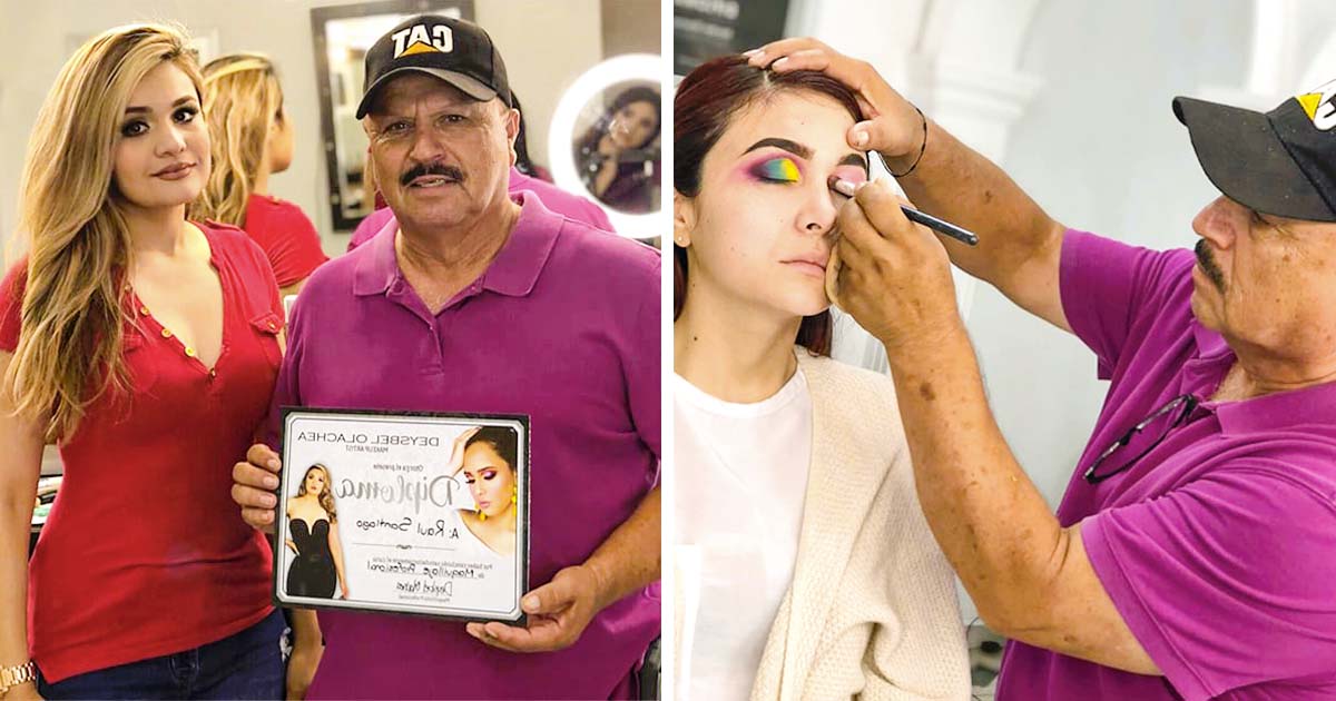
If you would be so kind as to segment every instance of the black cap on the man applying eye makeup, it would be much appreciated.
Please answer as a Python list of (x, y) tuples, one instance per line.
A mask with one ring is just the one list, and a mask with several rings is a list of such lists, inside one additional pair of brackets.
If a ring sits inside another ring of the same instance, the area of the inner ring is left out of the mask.
[(1206, 178), (1263, 214), (1336, 222), (1336, 80), (1271, 112), (1174, 97)]

